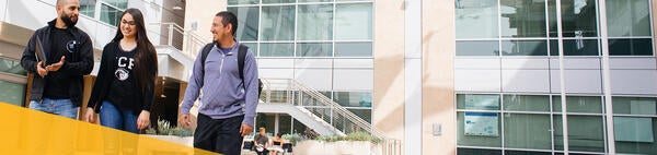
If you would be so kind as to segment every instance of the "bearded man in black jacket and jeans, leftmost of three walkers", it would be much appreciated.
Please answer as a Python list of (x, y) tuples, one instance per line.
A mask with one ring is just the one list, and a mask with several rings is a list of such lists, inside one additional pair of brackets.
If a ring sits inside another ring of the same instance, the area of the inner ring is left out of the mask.
[[(82, 103), (82, 76), (93, 69), (93, 47), (89, 35), (76, 27), (80, 2), (57, 0), (56, 8), (57, 19), (30, 38), (21, 65), (34, 74), (31, 109), (76, 119)], [(37, 61), (39, 47), (46, 58)]]

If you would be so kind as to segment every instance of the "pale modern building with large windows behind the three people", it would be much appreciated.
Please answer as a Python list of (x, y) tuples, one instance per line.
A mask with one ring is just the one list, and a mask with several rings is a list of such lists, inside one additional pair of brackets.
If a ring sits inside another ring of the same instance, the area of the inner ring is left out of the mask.
[[(11, 97), (25, 87), (14, 50), (26, 38), (10, 36), (53, 19), (39, 11), (54, 12), (53, 1), (0, 1), (2, 21), (18, 25), (0, 32), (8, 49), (0, 52), (0, 99), (24, 102)], [(100, 49), (114, 33), (112, 9), (122, 4), (94, 2), (80, 24)], [(209, 39), (215, 13), (237, 13), (238, 38), (256, 51), (263, 79), (293, 79), (321, 92), (401, 140), (403, 154), (657, 153), (653, 0), (182, 2), (184, 14), (175, 16), (184, 16), (176, 23), (185, 32)], [(174, 7), (127, 3), (154, 12), (150, 23), (170, 22), (163, 14)], [(158, 35), (151, 39), (168, 43)], [(183, 44), (181, 52), (195, 49)], [(186, 69), (188, 60), (164, 56), (168, 67)], [(182, 90), (185, 76), (171, 71), (165, 79), (180, 80), (170, 87)], [(256, 121), (281, 133), (306, 128), (286, 114)]]

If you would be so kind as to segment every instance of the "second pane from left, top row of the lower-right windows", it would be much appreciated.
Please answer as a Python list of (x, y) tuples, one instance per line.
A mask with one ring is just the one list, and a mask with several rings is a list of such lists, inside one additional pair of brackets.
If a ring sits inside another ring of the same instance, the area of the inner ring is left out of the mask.
[(504, 109), (511, 111), (550, 111), (548, 95), (504, 95)]

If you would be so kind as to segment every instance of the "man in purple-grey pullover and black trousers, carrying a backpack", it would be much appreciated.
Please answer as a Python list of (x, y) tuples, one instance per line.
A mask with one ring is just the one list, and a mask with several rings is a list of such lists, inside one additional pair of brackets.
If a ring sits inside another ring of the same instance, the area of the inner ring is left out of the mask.
[(244, 78), (240, 76), (234, 35), (237, 16), (227, 11), (212, 21), (214, 46), (201, 62), (201, 52), (194, 69), (181, 107), (180, 121), (189, 128), (189, 109), (198, 98), (198, 121), (194, 133), (194, 147), (227, 155), (239, 155), (244, 135), (253, 131), (255, 108), (258, 102), (257, 65), (251, 50), (244, 58)]

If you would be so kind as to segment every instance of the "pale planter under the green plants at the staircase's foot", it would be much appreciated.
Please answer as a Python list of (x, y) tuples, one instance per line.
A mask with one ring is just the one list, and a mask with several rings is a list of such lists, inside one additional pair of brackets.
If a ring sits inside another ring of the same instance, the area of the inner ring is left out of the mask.
[(381, 145), (367, 141), (302, 141), (293, 147), (297, 155), (379, 155)]

